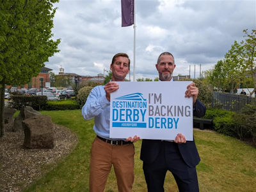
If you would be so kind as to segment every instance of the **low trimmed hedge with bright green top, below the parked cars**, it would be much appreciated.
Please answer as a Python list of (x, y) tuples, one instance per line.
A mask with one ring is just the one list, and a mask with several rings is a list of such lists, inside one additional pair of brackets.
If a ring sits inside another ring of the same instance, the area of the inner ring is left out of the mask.
[(76, 100), (48, 101), (43, 110), (74, 110), (79, 109)]

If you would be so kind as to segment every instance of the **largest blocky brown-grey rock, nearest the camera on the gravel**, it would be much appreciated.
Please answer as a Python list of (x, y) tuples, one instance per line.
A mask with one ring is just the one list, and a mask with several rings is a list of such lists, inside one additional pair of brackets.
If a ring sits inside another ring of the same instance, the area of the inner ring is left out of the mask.
[(24, 147), (29, 149), (52, 149), (55, 145), (53, 124), (48, 115), (35, 115), (22, 121)]

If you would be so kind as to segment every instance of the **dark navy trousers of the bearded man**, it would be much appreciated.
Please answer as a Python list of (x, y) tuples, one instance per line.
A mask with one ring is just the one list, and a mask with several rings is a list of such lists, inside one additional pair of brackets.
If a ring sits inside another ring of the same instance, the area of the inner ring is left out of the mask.
[(182, 159), (178, 144), (162, 142), (161, 151), (153, 163), (143, 163), (148, 192), (164, 191), (167, 170), (172, 172), (179, 191), (199, 191), (196, 168), (189, 167)]

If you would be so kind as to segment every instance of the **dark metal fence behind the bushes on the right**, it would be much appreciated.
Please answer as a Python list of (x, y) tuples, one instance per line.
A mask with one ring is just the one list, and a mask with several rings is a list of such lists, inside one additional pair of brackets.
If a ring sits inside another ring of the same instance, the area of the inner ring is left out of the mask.
[(213, 92), (212, 107), (214, 108), (219, 107), (225, 110), (239, 112), (246, 104), (256, 105), (256, 98), (223, 92)]

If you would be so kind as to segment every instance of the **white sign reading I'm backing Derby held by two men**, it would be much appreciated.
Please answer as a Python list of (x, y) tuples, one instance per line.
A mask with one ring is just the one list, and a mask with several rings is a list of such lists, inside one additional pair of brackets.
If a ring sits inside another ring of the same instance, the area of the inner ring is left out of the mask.
[(110, 138), (193, 140), (193, 99), (185, 98), (188, 81), (116, 82), (111, 93)]

